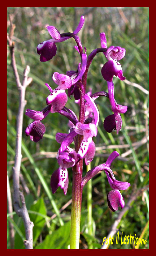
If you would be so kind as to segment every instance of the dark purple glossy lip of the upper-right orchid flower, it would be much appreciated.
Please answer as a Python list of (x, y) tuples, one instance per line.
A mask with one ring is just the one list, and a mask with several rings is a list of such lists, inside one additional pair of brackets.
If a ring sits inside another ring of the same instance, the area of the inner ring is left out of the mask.
[(120, 80), (125, 79), (125, 77), (123, 76), (121, 64), (117, 60), (107, 61), (103, 65), (101, 73), (103, 78), (108, 82), (112, 82), (113, 76), (118, 76)]

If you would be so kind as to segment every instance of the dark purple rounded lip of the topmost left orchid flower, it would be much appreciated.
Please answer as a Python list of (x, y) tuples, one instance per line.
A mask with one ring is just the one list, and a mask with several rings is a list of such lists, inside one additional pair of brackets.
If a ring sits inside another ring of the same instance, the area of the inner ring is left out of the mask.
[(53, 39), (44, 41), (37, 46), (37, 53), (40, 55), (40, 61), (51, 60), (56, 55), (57, 47)]

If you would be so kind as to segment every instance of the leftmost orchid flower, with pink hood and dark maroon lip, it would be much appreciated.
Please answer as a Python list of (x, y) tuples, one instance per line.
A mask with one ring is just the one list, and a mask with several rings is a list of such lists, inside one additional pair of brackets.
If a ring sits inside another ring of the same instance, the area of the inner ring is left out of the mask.
[(50, 109), (48, 107), (46, 107), (42, 111), (36, 111), (29, 108), (26, 109), (25, 115), (35, 120), (31, 124), (29, 124), (25, 130), (25, 135), (30, 136), (30, 139), (32, 141), (38, 142), (43, 138), (43, 135), (46, 132), (46, 127), (40, 122), (40, 120), (44, 119), (49, 112)]

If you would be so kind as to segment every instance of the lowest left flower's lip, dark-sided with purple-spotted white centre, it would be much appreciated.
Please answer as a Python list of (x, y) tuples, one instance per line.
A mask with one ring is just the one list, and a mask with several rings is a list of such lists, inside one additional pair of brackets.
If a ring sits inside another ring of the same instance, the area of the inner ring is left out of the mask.
[[(67, 180), (67, 182), (66, 182)], [(68, 187), (68, 171), (67, 169), (63, 169), (59, 167), (56, 171), (53, 172), (50, 180), (50, 186), (52, 188), (52, 193), (54, 194), (58, 187), (64, 189), (64, 194), (67, 194)]]

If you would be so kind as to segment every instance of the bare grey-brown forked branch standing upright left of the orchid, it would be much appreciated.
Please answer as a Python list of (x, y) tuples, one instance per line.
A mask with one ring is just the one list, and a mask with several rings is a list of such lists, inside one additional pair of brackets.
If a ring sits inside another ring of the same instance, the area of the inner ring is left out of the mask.
[[(26, 66), (24, 70), (24, 79), (23, 84), (21, 84), (18, 70), (16, 66), (16, 60), (15, 60), (15, 52), (14, 52), (14, 42), (12, 42), (12, 36), (15, 29), (15, 26), (13, 26), (11, 18), (11, 31), (10, 36), (8, 36), (8, 43), (10, 47), (10, 53), (11, 53), (11, 65), (13, 68), (14, 76), (16, 79), (16, 84), (19, 89), (19, 107), (18, 107), (18, 115), (17, 115), (17, 135), (16, 135), (16, 155), (15, 155), (15, 164), (14, 167), (12, 167), (12, 173), (13, 173), (13, 198), (14, 198), (14, 210), (18, 214), (18, 216), (22, 217), (24, 226), (25, 226), (25, 236), (26, 240), (24, 241), (25, 248), (26, 249), (33, 249), (33, 241), (32, 241), (32, 228), (33, 228), (33, 222), (31, 222), (29, 218), (29, 214), (25, 205), (25, 198), (23, 195), (23, 192), (20, 191), (19, 188), (19, 178), (20, 178), (20, 167), (21, 167), (21, 147), (22, 147), (22, 126), (23, 126), (23, 114), (24, 114), (24, 108), (25, 108), (25, 89), (26, 86), (32, 81), (29, 79), (28, 82), (28, 74), (30, 71), (29, 66)], [(20, 206), (20, 202), (22, 202), (22, 206)]]

